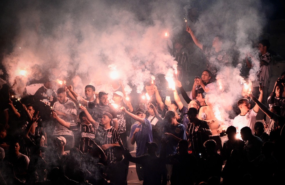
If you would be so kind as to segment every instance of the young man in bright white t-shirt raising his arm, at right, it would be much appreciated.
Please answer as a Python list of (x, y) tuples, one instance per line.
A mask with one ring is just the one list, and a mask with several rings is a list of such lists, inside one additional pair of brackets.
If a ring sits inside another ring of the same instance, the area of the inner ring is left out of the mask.
[[(263, 98), (263, 90), (262, 87), (259, 89), (260, 96), (258, 100), (261, 102)], [(242, 98), (237, 101), (237, 106), (240, 109), (240, 114), (237, 115), (233, 120), (233, 126), (237, 127), (238, 130), (243, 127), (249, 127), (253, 131), (254, 124), (256, 122), (256, 116), (259, 111), (258, 105), (255, 105), (253, 109), (250, 109), (249, 100), (246, 98)]]

